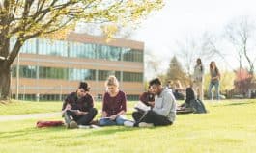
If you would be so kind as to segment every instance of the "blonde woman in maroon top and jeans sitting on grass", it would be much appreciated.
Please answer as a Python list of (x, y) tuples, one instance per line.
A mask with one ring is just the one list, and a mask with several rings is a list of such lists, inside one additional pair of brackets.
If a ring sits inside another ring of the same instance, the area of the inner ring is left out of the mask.
[(100, 126), (124, 125), (127, 112), (126, 93), (119, 90), (119, 83), (115, 76), (109, 76), (105, 82), (107, 91), (104, 93), (102, 102), (102, 117)]

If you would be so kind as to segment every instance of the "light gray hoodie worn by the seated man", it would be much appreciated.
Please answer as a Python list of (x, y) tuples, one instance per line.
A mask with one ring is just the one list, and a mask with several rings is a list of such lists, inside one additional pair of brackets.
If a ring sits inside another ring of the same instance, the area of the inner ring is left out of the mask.
[(171, 122), (176, 118), (176, 100), (171, 89), (162, 89), (160, 95), (155, 97), (153, 111), (158, 115), (166, 116)]

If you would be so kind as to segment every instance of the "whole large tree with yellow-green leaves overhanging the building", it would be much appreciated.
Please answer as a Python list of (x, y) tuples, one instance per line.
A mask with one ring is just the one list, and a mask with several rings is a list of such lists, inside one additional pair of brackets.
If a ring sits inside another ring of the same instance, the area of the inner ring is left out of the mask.
[(162, 6), (163, 0), (0, 0), (0, 99), (8, 99), (11, 65), (26, 40), (65, 38), (79, 22), (109, 23), (102, 30), (111, 38), (117, 25), (139, 23)]

